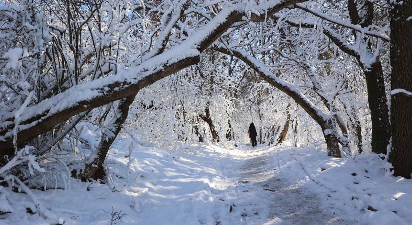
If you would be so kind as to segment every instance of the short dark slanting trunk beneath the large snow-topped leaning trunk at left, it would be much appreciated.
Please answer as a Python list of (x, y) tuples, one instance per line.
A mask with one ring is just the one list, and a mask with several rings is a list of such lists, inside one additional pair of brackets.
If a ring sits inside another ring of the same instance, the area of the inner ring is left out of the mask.
[(113, 124), (110, 125), (110, 131), (103, 133), (101, 141), (96, 149), (96, 154), (94, 155), (94, 152), (92, 153), (94, 155), (93, 161), (86, 163), (84, 170), (80, 172), (79, 177), (81, 180), (86, 181), (89, 178), (102, 179), (105, 177), (105, 172), (103, 169), (104, 160), (106, 159), (110, 146), (116, 139), (123, 123), (127, 119), (129, 107), (133, 103), (136, 94), (130, 95), (120, 100), (116, 113), (119, 117), (116, 118)]

